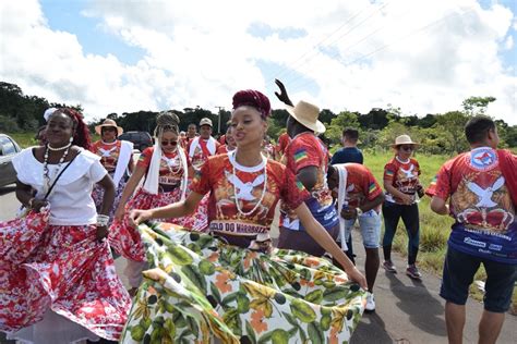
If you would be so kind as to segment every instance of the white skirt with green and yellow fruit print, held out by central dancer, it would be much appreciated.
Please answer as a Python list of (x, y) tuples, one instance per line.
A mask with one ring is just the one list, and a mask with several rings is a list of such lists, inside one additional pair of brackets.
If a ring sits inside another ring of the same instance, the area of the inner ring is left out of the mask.
[(121, 343), (344, 343), (364, 310), (365, 292), (326, 259), (168, 223), (139, 230), (151, 269)]

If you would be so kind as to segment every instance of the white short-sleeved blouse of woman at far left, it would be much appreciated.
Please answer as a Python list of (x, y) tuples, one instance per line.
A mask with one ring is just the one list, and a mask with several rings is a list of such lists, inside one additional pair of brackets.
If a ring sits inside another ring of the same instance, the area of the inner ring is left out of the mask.
[[(44, 172), (43, 162), (36, 160), (29, 147), (13, 158), (20, 182), (31, 185), (36, 198), (43, 199)], [(61, 165), (61, 169), (69, 162)], [(51, 183), (59, 174), (58, 164), (48, 164)], [(56, 174), (57, 172), (57, 174)], [(59, 177), (47, 200), (50, 204), (49, 223), (55, 225), (84, 225), (97, 222), (97, 210), (92, 198), (92, 189), (108, 172), (100, 164), (100, 157), (91, 151), (82, 150), (72, 164)]]

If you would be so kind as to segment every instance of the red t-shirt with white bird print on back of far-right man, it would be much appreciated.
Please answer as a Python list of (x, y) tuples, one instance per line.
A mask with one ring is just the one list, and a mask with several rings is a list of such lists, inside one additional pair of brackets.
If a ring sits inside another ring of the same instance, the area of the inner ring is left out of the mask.
[[(501, 151), (500, 151), (501, 152)], [(447, 161), (431, 183), (428, 195), (450, 197), (456, 219), (448, 245), (462, 253), (506, 263), (517, 263), (517, 222), (509, 189), (517, 180), (505, 179), (517, 169), (517, 157), (480, 147)], [(505, 170), (506, 169), (506, 170)], [(512, 185), (510, 185), (512, 184)]]

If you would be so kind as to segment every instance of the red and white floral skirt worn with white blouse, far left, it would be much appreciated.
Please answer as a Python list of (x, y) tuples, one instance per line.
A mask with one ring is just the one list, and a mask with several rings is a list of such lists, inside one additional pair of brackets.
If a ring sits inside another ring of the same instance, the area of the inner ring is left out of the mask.
[(98, 336), (118, 340), (131, 299), (95, 225), (50, 225), (49, 211), (0, 223), (0, 331), (14, 332), (47, 310)]

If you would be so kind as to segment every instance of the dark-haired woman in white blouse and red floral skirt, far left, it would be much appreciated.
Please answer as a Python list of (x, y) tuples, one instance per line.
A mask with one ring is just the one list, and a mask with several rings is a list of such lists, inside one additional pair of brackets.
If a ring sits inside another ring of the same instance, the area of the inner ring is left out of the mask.
[[(16, 197), (32, 211), (0, 223), (0, 331), (9, 339), (120, 336), (131, 300), (104, 239), (115, 187), (88, 148), (82, 115), (62, 108), (49, 118), (47, 144), (13, 160)], [(105, 188), (100, 214), (92, 198), (96, 183)]]

